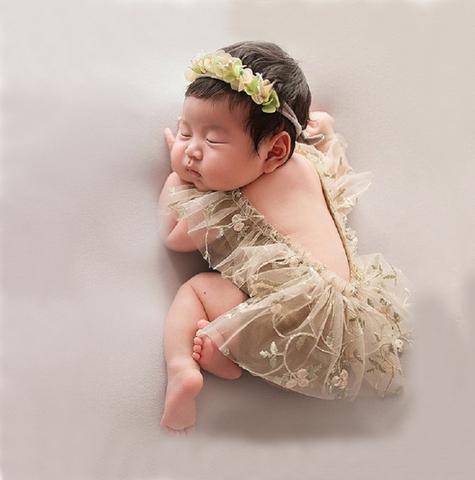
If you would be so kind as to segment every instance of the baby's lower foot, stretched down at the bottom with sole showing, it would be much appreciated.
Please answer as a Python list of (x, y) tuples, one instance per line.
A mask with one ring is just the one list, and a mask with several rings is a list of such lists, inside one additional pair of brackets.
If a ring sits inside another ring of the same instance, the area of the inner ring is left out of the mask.
[(168, 373), (165, 410), (160, 422), (162, 430), (177, 437), (193, 432), (196, 422), (196, 401), (203, 387), (203, 376), (196, 368)]

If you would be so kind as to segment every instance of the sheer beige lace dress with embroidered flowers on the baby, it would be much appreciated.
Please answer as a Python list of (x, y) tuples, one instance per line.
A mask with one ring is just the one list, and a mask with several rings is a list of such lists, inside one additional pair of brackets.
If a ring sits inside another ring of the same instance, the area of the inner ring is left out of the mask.
[(275, 230), (240, 189), (175, 187), (169, 206), (187, 220), (209, 265), (249, 297), (204, 329), (225, 355), (276, 386), (318, 398), (352, 400), (368, 386), (380, 396), (399, 393), (399, 353), (411, 336), (408, 281), (381, 254), (357, 254), (346, 215), (372, 174), (348, 168), (337, 177), (333, 150), (296, 145), (320, 176), (350, 281)]

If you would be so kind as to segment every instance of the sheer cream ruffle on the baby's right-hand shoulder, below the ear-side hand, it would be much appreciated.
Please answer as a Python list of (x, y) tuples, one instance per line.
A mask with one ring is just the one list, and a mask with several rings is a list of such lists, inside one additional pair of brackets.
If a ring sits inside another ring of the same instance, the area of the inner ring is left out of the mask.
[(358, 198), (373, 180), (373, 173), (370, 171), (355, 173), (350, 166), (345, 167), (341, 153), (344, 153), (347, 147), (343, 136), (336, 134), (326, 153), (301, 143), (296, 144), (295, 148), (297, 153), (304, 155), (319, 171), (334, 208), (344, 215), (353, 209)]

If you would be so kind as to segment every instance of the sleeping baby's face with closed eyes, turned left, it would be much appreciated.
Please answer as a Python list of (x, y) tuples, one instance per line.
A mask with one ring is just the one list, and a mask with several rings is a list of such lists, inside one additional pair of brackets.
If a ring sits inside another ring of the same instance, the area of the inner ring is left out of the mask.
[(226, 101), (187, 97), (171, 153), (173, 170), (200, 191), (234, 190), (263, 173), (264, 160), (244, 129), (245, 113)]

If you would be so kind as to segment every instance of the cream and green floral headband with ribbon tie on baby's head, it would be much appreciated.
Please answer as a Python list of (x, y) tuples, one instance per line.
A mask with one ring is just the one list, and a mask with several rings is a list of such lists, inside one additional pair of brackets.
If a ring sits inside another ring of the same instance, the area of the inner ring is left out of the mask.
[(267, 79), (264, 80), (260, 73), (254, 74), (250, 68), (245, 68), (240, 58), (232, 57), (224, 50), (200, 53), (191, 60), (191, 67), (187, 68), (185, 78), (194, 82), (199, 77), (217, 78), (229, 83), (233, 90), (247, 93), (254, 103), (262, 105), (263, 112), (279, 112), (292, 122), (298, 142), (314, 145), (325, 138), (323, 135), (307, 135), (294, 111), (286, 103), (280, 103), (273, 84)]

